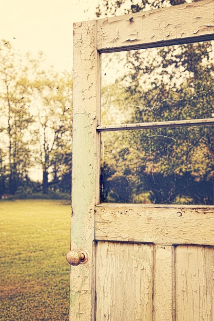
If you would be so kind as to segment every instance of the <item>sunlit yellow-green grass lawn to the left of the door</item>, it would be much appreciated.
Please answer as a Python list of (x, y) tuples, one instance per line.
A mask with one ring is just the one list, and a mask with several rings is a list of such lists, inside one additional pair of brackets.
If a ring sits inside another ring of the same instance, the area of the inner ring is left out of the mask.
[(0, 320), (68, 320), (70, 205), (0, 201)]

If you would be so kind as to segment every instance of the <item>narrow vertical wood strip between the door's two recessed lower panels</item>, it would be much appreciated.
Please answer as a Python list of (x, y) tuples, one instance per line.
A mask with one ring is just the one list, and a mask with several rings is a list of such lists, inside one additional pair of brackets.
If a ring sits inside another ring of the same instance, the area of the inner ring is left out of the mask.
[(155, 245), (154, 321), (172, 321), (173, 247)]

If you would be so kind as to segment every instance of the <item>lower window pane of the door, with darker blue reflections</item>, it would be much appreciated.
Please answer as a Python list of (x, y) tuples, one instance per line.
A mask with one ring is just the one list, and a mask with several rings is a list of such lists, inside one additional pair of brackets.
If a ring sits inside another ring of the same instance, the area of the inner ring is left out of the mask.
[(213, 204), (214, 126), (101, 134), (101, 202)]

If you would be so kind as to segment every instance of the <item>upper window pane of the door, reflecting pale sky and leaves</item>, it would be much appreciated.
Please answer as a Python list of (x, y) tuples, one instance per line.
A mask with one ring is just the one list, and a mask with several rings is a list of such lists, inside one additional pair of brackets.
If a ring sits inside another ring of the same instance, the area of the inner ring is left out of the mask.
[(214, 117), (214, 41), (102, 54), (102, 125)]

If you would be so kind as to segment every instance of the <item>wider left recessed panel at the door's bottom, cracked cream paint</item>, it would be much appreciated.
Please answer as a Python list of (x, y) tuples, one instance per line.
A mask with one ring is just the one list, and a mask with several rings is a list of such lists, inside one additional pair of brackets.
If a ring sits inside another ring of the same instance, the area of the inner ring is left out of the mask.
[(96, 320), (152, 321), (153, 246), (98, 242)]

